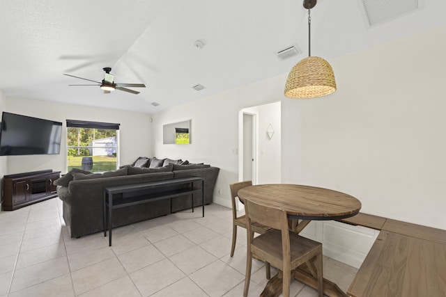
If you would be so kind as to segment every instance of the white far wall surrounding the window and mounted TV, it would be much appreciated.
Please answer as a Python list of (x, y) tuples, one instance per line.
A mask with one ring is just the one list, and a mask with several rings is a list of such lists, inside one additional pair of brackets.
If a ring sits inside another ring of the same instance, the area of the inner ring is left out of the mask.
[(61, 154), (0, 156), (0, 164), (6, 162), (7, 168), (3, 175), (44, 169), (60, 170), (65, 173), (67, 166), (67, 119), (120, 123), (119, 148), (122, 165), (132, 163), (138, 156), (151, 156), (153, 154), (151, 151), (151, 115), (146, 113), (16, 98), (6, 99), (6, 109), (4, 111), (63, 122), (63, 129)]

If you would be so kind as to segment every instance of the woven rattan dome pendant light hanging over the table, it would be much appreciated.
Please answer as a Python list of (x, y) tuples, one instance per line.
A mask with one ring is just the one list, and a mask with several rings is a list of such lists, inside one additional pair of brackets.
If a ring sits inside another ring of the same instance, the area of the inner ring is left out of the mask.
[(336, 90), (336, 81), (330, 64), (323, 58), (311, 56), (310, 10), (316, 6), (317, 0), (304, 0), (304, 8), (308, 9), (308, 57), (297, 63), (288, 74), (285, 85), (285, 96), (293, 99), (310, 99), (329, 95)]

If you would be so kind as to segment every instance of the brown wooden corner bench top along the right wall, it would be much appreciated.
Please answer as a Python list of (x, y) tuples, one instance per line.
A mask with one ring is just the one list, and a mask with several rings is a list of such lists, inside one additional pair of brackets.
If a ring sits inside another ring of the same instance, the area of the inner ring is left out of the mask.
[(349, 296), (446, 296), (446, 230), (362, 213), (339, 221), (380, 230)]

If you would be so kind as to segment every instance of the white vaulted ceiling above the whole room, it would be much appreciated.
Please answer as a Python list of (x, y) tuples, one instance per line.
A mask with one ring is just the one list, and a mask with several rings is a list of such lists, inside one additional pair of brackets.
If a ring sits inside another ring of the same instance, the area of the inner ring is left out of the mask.
[[(418, 0), (414, 12), (374, 26), (365, 22), (360, 3), (318, 1), (311, 13), (312, 56), (330, 62), (446, 22), (444, 0)], [(302, 0), (4, 0), (0, 90), (12, 98), (157, 113), (289, 72), (308, 54), (307, 16)], [(206, 45), (199, 49), (196, 40)], [(302, 54), (277, 58), (291, 45)], [(98, 86), (68, 86), (89, 81), (63, 76), (101, 81), (103, 67), (112, 67), (115, 83), (147, 88), (134, 88), (139, 95), (104, 94)], [(206, 88), (197, 92), (192, 86), (198, 83)]]

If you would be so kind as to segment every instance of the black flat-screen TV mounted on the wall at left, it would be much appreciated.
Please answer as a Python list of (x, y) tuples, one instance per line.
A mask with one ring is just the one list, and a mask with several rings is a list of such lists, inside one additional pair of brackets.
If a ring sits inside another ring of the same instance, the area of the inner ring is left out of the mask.
[(3, 111), (0, 156), (59, 154), (62, 123)]

